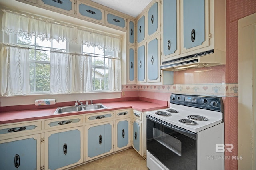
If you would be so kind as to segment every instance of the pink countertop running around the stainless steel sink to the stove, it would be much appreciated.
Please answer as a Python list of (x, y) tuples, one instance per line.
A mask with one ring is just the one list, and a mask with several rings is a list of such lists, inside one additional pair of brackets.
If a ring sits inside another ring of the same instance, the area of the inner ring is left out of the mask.
[(97, 113), (103, 111), (112, 111), (118, 109), (136, 109), (138, 111), (151, 111), (156, 109), (163, 109), (167, 107), (166, 104), (158, 104), (152, 103), (148, 101), (120, 101), (120, 102), (108, 102), (102, 103), (107, 109), (101, 110), (94, 110), (94, 111), (80, 111), (80, 112), (72, 112), (72, 113), (63, 113), (63, 114), (54, 114), (54, 111), (57, 107), (52, 108), (41, 108), (41, 109), (30, 109), (30, 110), (21, 110), (21, 111), (5, 111), (0, 112), (0, 124), (4, 123), (14, 123), (14, 122), (22, 122), (22, 121), (32, 121), (32, 120), (39, 120), (39, 119), (48, 119), (54, 117), (63, 117), (63, 116), (70, 116), (70, 115), (80, 115), (86, 113)]

